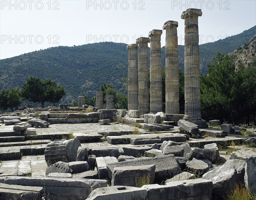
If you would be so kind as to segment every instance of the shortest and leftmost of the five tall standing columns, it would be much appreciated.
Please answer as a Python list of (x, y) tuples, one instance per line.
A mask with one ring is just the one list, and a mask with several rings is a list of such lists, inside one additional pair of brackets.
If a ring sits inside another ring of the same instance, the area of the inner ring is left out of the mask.
[(138, 110), (137, 44), (129, 44), (128, 50), (128, 110)]

